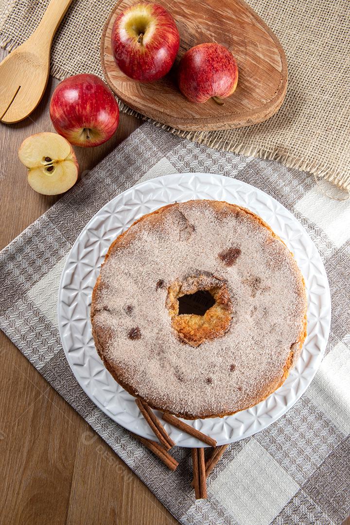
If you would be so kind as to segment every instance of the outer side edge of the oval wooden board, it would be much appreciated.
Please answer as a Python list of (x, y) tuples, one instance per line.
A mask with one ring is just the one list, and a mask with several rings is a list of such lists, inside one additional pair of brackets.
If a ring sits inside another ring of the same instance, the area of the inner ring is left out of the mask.
[[(138, 113), (143, 114), (147, 118), (160, 122), (161, 124), (165, 124), (171, 128), (183, 130), (183, 131), (218, 131), (218, 130), (243, 128), (249, 125), (259, 124), (260, 122), (264, 122), (265, 120), (272, 117), (275, 113), (277, 113), (277, 111), (280, 109), (280, 107), (283, 104), (285, 93), (287, 92), (287, 86), (288, 86), (287, 58), (285, 57), (284, 50), (277, 36), (273, 33), (273, 31), (269, 28), (269, 26), (262, 20), (262, 18), (260, 18), (260, 16), (244, 0), (236, 0), (236, 1), (240, 3), (243, 7), (245, 7), (248, 10), (248, 12), (252, 15), (252, 17), (256, 19), (257, 22), (261, 25), (261, 27), (270, 35), (270, 37), (274, 41), (279, 51), (279, 55), (281, 58), (281, 64), (282, 64), (281, 80), (279, 83), (279, 87), (277, 91), (275, 92), (274, 97), (270, 99), (268, 103), (264, 104), (264, 106), (260, 109), (260, 111), (258, 112), (257, 110), (247, 111), (245, 114), (244, 113), (242, 114), (242, 117), (239, 121), (235, 120), (234, 122), (225, 122), (223, 126), (221, 119), (218, 120), (215, 117), (198, 118), (194, 120), (194, 119), (173, 117), (167, 114), (166, 120), (164, 120), (164, 116), (165, 116), (164, 112), (159, 111), (155, 108), (150, 108), (149, 106), (147, 106), (146, 102), (144, 105), (142, 103), (135, 104), (131, 98), (126, 97), (124, 93), (121, 93), (115, 87), (105, 67), (105, 60), (104, 60), (106, 36), (107, 36), (109, 29), (110, 29), (110, 33), (112, 32), (112, 26), (114, 24), (113, 18), (115, 17), (115, 12), (118, 9), (119, 5), (122, 3), (122, 1), (123, 0), (119, 0), (115, 4), (110, 16), (107, 19), (107, 22), (104, 25), (102, 36), (101, 36), (100, 58), (101, 58), (101, 66), (102, 66), (103, 75), (105, 77), (105, 80), (108, 83), (108, 86), (115, 93), (115, 95), (120, 100), (122, 100), (127, 106), (129, 106), (131, 109), (133, 109), (134, 111)], [(115, 65), (115, 67), (118, 67), (118, 66)]]

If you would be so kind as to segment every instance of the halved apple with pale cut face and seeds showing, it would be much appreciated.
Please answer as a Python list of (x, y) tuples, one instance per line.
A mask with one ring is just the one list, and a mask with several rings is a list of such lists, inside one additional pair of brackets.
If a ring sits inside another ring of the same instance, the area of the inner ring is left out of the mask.
[(42, 195), (58, 195), (78, 178), (79, 165), (72, 146), (56, 133), (37, 133), (25, 139), (19, 160), (28, 168), (28, 184)]

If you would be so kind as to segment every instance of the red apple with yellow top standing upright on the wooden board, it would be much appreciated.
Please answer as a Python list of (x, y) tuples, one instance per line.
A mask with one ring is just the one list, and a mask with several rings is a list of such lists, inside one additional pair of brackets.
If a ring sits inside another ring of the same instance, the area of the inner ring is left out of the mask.
[(116, 64), (140, 82), (164, 77), (174, 64), (179, 43), (174, 18), (159, 4), (132, 5), (118, 16), (112, 29)]

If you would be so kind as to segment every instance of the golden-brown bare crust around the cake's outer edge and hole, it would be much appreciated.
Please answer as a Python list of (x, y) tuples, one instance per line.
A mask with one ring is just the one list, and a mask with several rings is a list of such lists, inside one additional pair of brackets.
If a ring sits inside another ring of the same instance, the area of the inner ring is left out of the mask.
[[(189, 203), (192, 203), (193, 206), (196, 206), (196, 203), (207, 203), (206, 206), (209, 208), (215, 209), (215, 213), (218, 213), (220, 217), (222, 216), (222, 220), (225, 220), (225, 216), (229, 217), (230, 215), (236, 216), (236, 217), (243, 217), (243, 215), (249, 217), (253, 222), (260, 225), (262, 228), (265, 228), (267, 232), (269, 233), (269, 238), (267, 239), (267, 243), (271, 240), (277, 240), (280, 243), (283, 244), (285, 247), (285, 244), (283, 241), (272, 231), (272, 229), (269, 227), (269, 225), (264, 222), (261, 217), (257, 216), (256, 214), (252, 213), (246, 208), (242, 208), (240, 206), (237, 206), (235, 204), (229, 204), (224, 201), (189, 201)], [(184, 203), (186, 204), (186, 203)], [(103, 267), (106, 265), (107, 261), (110, 258), (113, 258), (113, 256), (116, 255), (116, 253), (120, 254), (123, 249), (128, 248), (134, 241), (137, 243), (137, 235), (138, 232), (136, 232), (136, 225), (139, 225), (142, 227), (142, 225), (147, 225), (147, 228), (153, 228), (158, 229), (162, 228), (163, 223), (163, 217), (167, 215), (169, 210), (171, 208), (176, 208), (179, 205), (178, 203), (174, 204), (168, 204), (162, 208), (157, 209), (156, 211), (144, 215), (140, 219), (136, 220), (132, 226), (127, 229), (124, 233), (119, 235), (113, 243), (111, 244), (107, 255), (105, 256)], [(140, 230), (140, 228), (139, 228)], [(285, 250), (288, 250), (287, 247), (285, 247)], [(233, 250), (231, 250), (232, 253), (230, 254), (222, 251), (219, 254), (219, 259), (223, 260), (224, 262), (229, 259), (230, 256), (233, 254)], [(161, 254), (160, 254), (161, 255)], [(118, 382), (126, 391), (128, 391), (133, 396), (139, 396), (144, 399), (152, 408), (158, 409), (160, 411), (167, 411), (171, 412), (172, 414), (175, 414), (178, 417), (184, 417), (186, 419), (196, 419), (196, 418), (206, 418), (206, 417), (223, 417), (226, 415), (234, 414), (238, 411), (241, 411), (243, 409), (247, 409), (253, 405), (256, 405), (263, 401), (266, 397), (268, 397), (271, 393), (273, 393), (277, 388), (279, 388), (285, 379), (287, 379), (289, 372), (291, 368), (294, 366), (296, 360), (299, 358), (299, 355), (301, 353), (302, 345), (304, 343), (304, 340), (306, 338), (306, 296), (305, 296), (305, 289), (304, 289), (304, 279), (301, 275), (301, 272), (296, 265), (296, 262), (293, 258), (293, 255), (289, 252), (290, 257), (290, 263), (292, 265), (293, 272), (295, 272), (296, 279), (298, 281), (297, 283), (297, 293), (296, 295), (299, 296), (300, 302), (302, 304), (299, 317), (300, 317), (300, 331), (298, 333), (298, 337), (293, 341), (293, 343), (289, 347), (289, 353), (284, 361), (283, 367), (281, 369), (281, 373), (278, 376), (274, 376), (271, 381), (269, 382), (263, 382), (263, 384), (258, 387), (256, 385), (252, 385), (252, 393), (249, 398), (247, 398), (246, 402), (242, 402), (237, 409), (222, 409), (217, 412), (213, 412), (213, 410), (201, 408), (200, 410), (194, 412), (191, 409), (186, 409), (184, 407), (181, 407), (180, 410), (176, 409), (175, 406), (170, 407), (169, 403), (166, 402), (163, 404), (163, 400), (160, 398), (157, 398), (156, 400), (152, 398), (152, 395), (142, 395), (140, 392), (140, 388), (135, 387), (133, 384), (133, 377), (132, 375), (128, 376), (128, 374), (125, 373), (125, 367), (118, 363), (118, 361), (115, 361), (115, 359), (111, 359), (110, 357), (110, 351), (109, 346), (111, 344), (111, 341), (115, 338), (115, 334), (113, 333), (112, 329), (109, 329), (108, 326), (104, 325), (103, 323), (100, 323), (97, 318), (99, 317), (99, 314), (101, 313), (101, 309), (107, 307), (101, 308), (102, 303), (105, 303), (105, 298), (103, 298), (103, 290), (104, 288), (108, 287), (108, 282), (104, 282), (101, 278), (102, 273), (99, 275), (96, 285), (94, 286), (93, 293), (92, 293), (92, 302), (91, 302), (91, 323), (92, 323), (92, 334), (93, 339), (96, 345), (96, 349), (98, 351), (98, 354), (103, 361), (105, 367), (109, 370), (111, 375), (114, 377), (115, 381)], [(226, 264), (225, 262), (225, 264)], [(200, 278), (200, 274), (197, 276)], [(157, 283), (160, 279), (160, 276), (155, 276), (155, 280), (157, 280)], [(225, 279), (221, 279), (221, 277), (214, 275), (214, 279), (219, 279), (222, 281), (225, 281)], [(174, 281), (176, 283), (176, 280)], [(216, 308), (213, 309), (213, 311), (207, 311), (206, 314), (208, 314), (207, 319), (205, 319), (205, 322), (201, 323), (201, 326), (198, 328), (196, 326), (196, 323), (191, 318), (191, 316), (177, 316), (176, 312), (173, 317), (171, 317), (172, 314), (172, 307), (174, 306), (174, 297), (176, 296), (176, 290), (178, 291), (178, 288), (174, 288), (174, 282), (173, 283), (166, 283), (167, 286), (167, 298), (164, 304), (164, 307), (168, 307), (169, 310), (169, 322), (172, 322), (172, 331), (176, 330), (178, 332), (177, 335), (180, 337), (183, 336), (183, 344), (192, 344), (193, 346), (199, 346), (201, 342), (208, 341), (214, 338), (219, 338), (224, 334), (226, 331), (230, 330), (230, 325), (228, 321), (228, 317), (230, 316), (230, 313), (232, 311), (232, 304), (230, 298), (227, 296), (227, 293), (222, 290), (221, 288), (218, 288), (218, 297), (221, 297), (221, 304), (223, 305), (222, 308), (225, 310), (225, 314), (223, 318), (219, 319), (218, 315), (218, 309), (217, 309), (217, 303), (215, 305)], [(173, 286), (173, 290), (172, 290)], [(209, 286), (209, 285), (208, 285)], [(215, 287), (213, 287), (215, 288)], [(175, 289), (175, 292), (174, 292)], [(191, 292), (189, 292), (191, 293)], [(170, 299), (169, 299), (170, 296)], [(175, 301), (176, 302), (176, 301)], [(219, 301), (220, 302), (220, 301)], [(219, 305), (220, 306), (220, 305)], [(212, 310), (212, 309), (210, 309)], [(209, 312), (209, 313), (208, 313)], [(174, 313), (174, 312), (173, 312)], [(206, 316), (205, 314), (205, 316)], [(204, 316), (204, 317), (205, 317)], [(174, 323), (174, 317), (175, 323)], [(195, 316), (198, 317), (198, 316)], [(186, 318), (186, 319), (185, 319)], [(215, 330), (213, 331), (213, 323), (215, 326)], [(134, 329), (136, 330), (136, 329)], [(199, 335), (198, 335), (199, 333)], [(133, 334), (131, 334), (133, 335)], [(130, 337), (130, 339), (139, 339), (137, 331), (134, 334), (135, 337)], [(200, 346), (199, 346), (200, 348)], [(180, 358), (179, 358), (180, 359)], [(254, 386), (254, 388), (253, 388)]]

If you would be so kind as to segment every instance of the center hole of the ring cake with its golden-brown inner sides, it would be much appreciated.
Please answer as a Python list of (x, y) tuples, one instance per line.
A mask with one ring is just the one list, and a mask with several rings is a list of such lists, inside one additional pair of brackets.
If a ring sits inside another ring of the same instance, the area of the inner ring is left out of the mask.
[(174, 281), (166, 308), (177, 337), (191, 346), (222, 337), (233, 316), (226, 280), (207, 273)]

